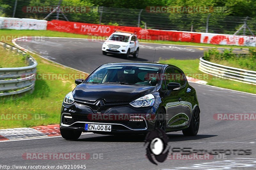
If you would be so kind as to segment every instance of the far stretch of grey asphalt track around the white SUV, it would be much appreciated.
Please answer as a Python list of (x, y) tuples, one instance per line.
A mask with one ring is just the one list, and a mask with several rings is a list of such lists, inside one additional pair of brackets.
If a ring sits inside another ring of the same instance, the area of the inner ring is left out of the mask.
[[(139, 57), (130, 57), (125, 60), (119, 55), (102, 55), (101, 46), (103, 42), (91, 39), (67, 39), (67, 38), (45, 38), (43, 41), (17, 42), (23, 48), (36, 52), (39, 55), (56, 61), (65, 66), (76, 68), (84, 72), (92, 72), (101, 64), (118, 61), (141, 61), (153, 62), (156, 49), (155, 61), (161, 59), (198, 59), (203, 56), (207, 47), (177, 46), (164, 44), (140, 43)], [(33, 40), (33, 39), (32, 39)], [(223, 51), (223, 48), (218, 48)], [(246, 53), (244, 49), (234, 49), (237, 53)]]

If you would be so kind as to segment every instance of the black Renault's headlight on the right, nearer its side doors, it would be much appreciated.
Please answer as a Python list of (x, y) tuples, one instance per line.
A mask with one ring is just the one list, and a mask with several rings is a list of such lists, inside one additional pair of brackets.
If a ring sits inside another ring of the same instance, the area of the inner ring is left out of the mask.
[(152, 94), (148, 94), (146, 96), (142, 96), (132, 101), (130, 104), (133, 107), (148, 107), (148, 106), (153, 106), (154, 103), (155, 103), (155, 97)]

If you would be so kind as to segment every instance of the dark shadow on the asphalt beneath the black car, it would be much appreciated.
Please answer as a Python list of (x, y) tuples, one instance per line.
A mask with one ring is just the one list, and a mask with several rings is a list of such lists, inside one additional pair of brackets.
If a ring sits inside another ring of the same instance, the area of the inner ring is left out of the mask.
[[(206, 138), (215, 137), (218, 135), (197, 135), (197, 136), (184, 136), (176, 134), (167, 134), (169, 137), (168, 142), (178, 142), (186, 140), (207, 140)], [(89, 138), (80, 138), (76, 141), (81, 142), (144, 142), (145, 135), (105, 135)]]

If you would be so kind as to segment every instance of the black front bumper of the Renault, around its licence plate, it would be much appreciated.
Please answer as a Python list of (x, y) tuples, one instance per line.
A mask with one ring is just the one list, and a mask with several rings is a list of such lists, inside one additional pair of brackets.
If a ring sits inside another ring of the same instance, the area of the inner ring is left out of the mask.
[[(108, 108), (104, 113), (99, 114), (97, 110), (82, 104), (62, 105), (60, 128), (100, 134), (147, 133), (154, 129), (155, 110), (154, 107), (137, 109), (127, 105)], [(130, 121), (134, 117), (142, 121)], [(111, 132), (85, 131), (86, 123), (111, 125), (112, 130)]]

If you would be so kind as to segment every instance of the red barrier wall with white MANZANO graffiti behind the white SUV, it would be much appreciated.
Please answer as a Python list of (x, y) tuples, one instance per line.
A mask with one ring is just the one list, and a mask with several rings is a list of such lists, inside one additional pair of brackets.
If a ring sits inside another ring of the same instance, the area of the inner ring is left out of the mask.
[(86, 24), (58, 20), (48, 21), (47, 30), (95, 36), (109, 36), (116, 30), (122, 30), (136, 33), (139, 39), (195, 43), (200, 43), (201, 39), (201, 34), (195, 32), (146, 30), (140, 27)]

